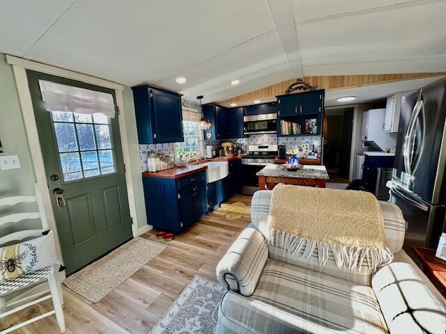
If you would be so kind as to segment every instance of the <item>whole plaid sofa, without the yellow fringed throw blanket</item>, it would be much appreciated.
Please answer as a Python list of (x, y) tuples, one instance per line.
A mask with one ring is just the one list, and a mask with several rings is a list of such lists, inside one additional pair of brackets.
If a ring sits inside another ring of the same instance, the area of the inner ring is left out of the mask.
[(445, 299), (401, 250), (398, 207), (380, 202), (394, 261), (348, 272), (268, 246), (270, 197), (254, 193), (252, 223), (217, 265), (217, 333), (446, 333)]

